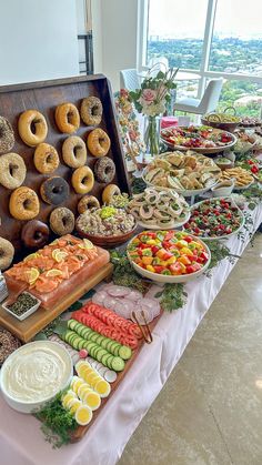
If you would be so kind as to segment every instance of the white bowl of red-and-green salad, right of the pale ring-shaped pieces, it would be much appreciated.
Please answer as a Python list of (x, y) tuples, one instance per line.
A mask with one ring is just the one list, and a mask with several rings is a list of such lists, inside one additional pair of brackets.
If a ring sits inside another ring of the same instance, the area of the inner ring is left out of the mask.
[(209, 199), (191, 208), (191, 218), (184, 231), (198, 237), (226, 239), (235, 234), (244, 223), (240, 209), (230, 199)]

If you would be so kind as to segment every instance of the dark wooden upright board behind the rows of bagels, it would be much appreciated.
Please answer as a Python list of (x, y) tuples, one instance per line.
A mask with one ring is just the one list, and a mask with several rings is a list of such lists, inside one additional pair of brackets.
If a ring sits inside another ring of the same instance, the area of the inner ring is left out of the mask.
[[(27, 165), (27, 178), (23, 185), (33, 189), (40, 199), (40, 185), (46, 179), (53, 175), (64, 178), (70, 185), (70, 196), (59, 206), (68, 206), (75, 215), (77, 204), (82, 195), (77, 194), (71, 186), (73, 169), (64, 164), (61, 152), (62, 143), (69, 134), (59, 132), (54, 122), (54, 110), (58, 104), (63, 102), (74, 103), (78, 109), (80, 109), (81, 100), (88, 95), (95, 95), (100, 98), (103, 104), (103, 115), (99, 128), (102, 128), (111, 140), (111, 149), (108, 156), (110, 156), (115, 164), (115, 176), (112, 183), (118, 184), (121, 191), (129, 192), (128, 173), (115, 120), (112, 91), (110, 83), (104, 75), (84, 75), (0, 87), (0, 115), (10, 121), (16, 135), (16, 144), (11, 152), (19, 153)], [(60, 165), (49, 175), (41, 174), (36, 170), (33, 163), (34, 149), (26, 145), (18, 133), (19, 115), (23, 111), (30, 109), (39, 110), (46, 117), (49, 128), (46, 142), (53, 145), (59, 153)], [(87, 127), (81, 121), (78, 132), (71, 135), (79, 135), (85, 141), (88, 133), (92, 129), (93, 127)], [(98, 159), (92, 156), (88, 151), (87, 165), (93, 169), (97, 160)], [(97, 196), (101, 202), (101, 193), (105, 185), (107, 184), (101, 184), (95, 181), (90, 194)], [(26, 255), (31, 252), (30, 250), (24, 250), (24, 247), (23, 251), (21, 251), (22, 243), (20, 241), (20, 234), (22, 225), (26, 222), (13, 219), (9, 213), (9, 199), (11, 192), (11, 190), (0, 185), (0, 236), (11, 241), (16, 251)], [(37, 219), (43, 221), (44, 223), (49, 223), (49, 216), (54, 206), (44, 203), (40, 199), (40, 213)], [(19, 259), (20, 256), (17, 256), (16, 261)]]

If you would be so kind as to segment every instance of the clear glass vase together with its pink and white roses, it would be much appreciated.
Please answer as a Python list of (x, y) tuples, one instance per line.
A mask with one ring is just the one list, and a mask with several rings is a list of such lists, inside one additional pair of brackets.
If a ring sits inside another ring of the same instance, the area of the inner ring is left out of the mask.
[(151, 156), (159, 153), (159, 135), (161, 117), (171, 101), (171, 91), (177, 88), (174, 82), (178, 69), (148, 72), (141, 88), (130, 92), (130, 98), (139, 113), (145, 117), (144, 143), (145, 152)]

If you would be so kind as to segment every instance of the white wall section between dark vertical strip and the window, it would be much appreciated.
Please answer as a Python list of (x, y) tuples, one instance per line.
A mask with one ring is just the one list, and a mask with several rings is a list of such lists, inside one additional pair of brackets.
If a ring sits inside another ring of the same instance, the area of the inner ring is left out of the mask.
[(102, 71), (117, 91), (120, 70), (137, 67), (138, 0), (100, 2), (100, 16), (99, 8), (92, 12), (94, 71)]

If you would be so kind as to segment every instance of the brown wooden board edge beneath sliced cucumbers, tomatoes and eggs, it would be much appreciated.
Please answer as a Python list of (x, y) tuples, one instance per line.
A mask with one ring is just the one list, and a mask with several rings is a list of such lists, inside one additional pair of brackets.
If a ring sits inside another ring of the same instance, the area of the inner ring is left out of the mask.
[[(157, 319), (154, 319), (150, 324), (150, 331), (152, 333), (153, 328), (155, 327), (159, 319), (161, 317), (163, 311), (161, 310), (160, 315), (157, 316)], [(143, 345), (147, 344), (144, 342), (144, 340), (140, 341), (139, 347), (135, 348), (135, 351), (133, 351), (133, 355), (132, 357), (125, 363), (125, 367), (122, 372), (120, 372), (118, 374), (117, 380), (114, 381), (114, 383), (110, 383), (111, 386), (111, 393), (109, 394), (108, 397), (105, 398), (101, 398), (101, 406), (93, 412), (93, 417), (92, 421), (87, 425), (87, 426), (79, 426), (75, 432), (72, 434), (71, 436), (71, 443), (77, 443), (78, 441), (82, 439), (82, 437), (88, 433), (90, 426), (92, 426), (93, 422), (95, 422), (95, 418), (100, 415), (101, 411), (103, 410), (104, 405), (110, 401), (110, 398), (112, 397), (113, 393), (117, 391), (119, 384), (122, 382), (122, 380), (125, 377), (125, 375), (128, 374), (129, 370), (131, 368), (131, 366), (133, 365), (133, 363), (135, 362), (137, 357), (139, 356)], [(153, 341), (152, 343), (153, 344)]]

